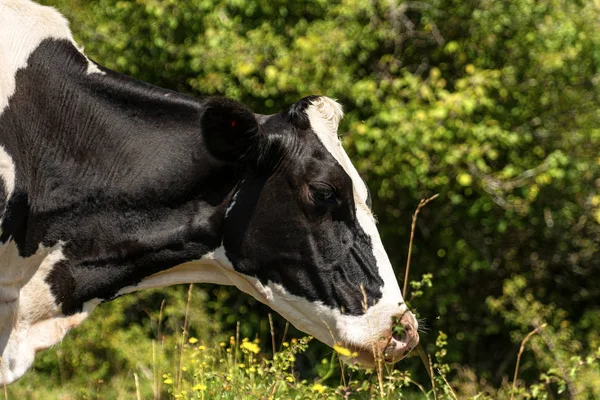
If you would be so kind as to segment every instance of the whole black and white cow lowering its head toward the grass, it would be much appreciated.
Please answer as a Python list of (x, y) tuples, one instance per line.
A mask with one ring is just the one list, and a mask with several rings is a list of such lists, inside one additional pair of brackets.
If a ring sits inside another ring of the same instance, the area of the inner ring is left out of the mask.
[(136, 81), (56, 10), (0, 0), (0, 383), (100, 302), (184, 282), (235, 285), (350, 361), (405, 356), (417, 322), (341, 118), (327, 97), (259, 115)]

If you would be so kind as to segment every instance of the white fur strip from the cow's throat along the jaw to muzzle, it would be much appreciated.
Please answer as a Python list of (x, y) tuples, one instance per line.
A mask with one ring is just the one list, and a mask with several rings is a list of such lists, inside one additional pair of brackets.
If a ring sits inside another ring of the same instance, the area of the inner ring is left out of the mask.
[[(387, 257), (383, 260), (387, 261)], [(387, 267), (391, 270), (389, 261)], [(386, 281), (382, 288), (383, 296), (376, 304), (365, 305), (364, 314), (349, 315), (320, 302), (311, 302), (293, 295), (280, 284), (263, 284), (256, 277), (239, 273), (227, 257), (223, 246), (199, 260), (159, 272), (135, 286), (123, 288), (118, 294), (190, 282), (236, 286), (319, 341), (331, 347), (347, 347), (351, 353), (355, 353), (354, 357), (347, 358), (347, 361), (356, 361), (363, 366), (372, 366), (377, 353), (384, 357), (385, 346), (382, 346), (381, 342), (384, 341), (387, 345), (391, 341), (392, 316), (405, 315), (411, 320), (414, 332), (417, 328), (414, 316), (402, 301), (395, 278), (391, 282)], [(418, 341), (418, 337), (415, 340)], [(416, 341), (400, 344), (393, 349), (395, 354), (392, 354), (391, 359), (396, 360), (406, 355), (416, 345)]]

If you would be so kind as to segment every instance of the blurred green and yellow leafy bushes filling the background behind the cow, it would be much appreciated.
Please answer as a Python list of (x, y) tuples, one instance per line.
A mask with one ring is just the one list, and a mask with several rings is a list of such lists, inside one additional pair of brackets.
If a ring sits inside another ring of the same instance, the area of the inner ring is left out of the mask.
[[(598, 0), (45, 3), (67, 16), (90, 58), (159, 86), (265, 114), (310, 94), (338, 99), (344, 146), (373, 193), (400, 281), (411, 214), (440, 194), (420, 214), (411, 271), (431, 273), (433, 285), (411, 303), (430, 353), (437, 332), (447, 334), (459, 397), (499, 396), (521, 341), (547, 323), (523, 354), (523, 387), (600, 398), (590, 367), (600, 346)], [(198, 286), (190, 326), (199, 337), (229, 335), (240, 321), (243, 336), (269, 343), (266, 308)], [(18, 390), (68, 386), (82, 373), (130, 388), (159, 338), (163, 298), (176, 315), (185, 293), (103, 305)], [(281, 335), (284, 323), (275, 325)], [(313, 342), (299, 369), (315, 376), (327, 354)], [(400, 367), (427, 382), (418, 357)]]

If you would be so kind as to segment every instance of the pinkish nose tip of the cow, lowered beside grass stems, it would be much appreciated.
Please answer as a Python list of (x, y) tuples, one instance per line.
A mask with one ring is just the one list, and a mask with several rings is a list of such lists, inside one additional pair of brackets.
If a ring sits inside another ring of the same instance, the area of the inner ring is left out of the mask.
[(406, 311), (393, 318), (392, 336), (383, 350), (386, 362), (396, 362), (419, 344), (419, 324), (415, 316)]

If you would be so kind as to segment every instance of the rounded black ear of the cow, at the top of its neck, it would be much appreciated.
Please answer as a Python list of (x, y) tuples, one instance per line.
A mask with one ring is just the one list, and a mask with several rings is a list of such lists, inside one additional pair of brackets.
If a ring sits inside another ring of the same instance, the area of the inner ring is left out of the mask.
[(252, 111), (221, 97), (210, 98), (203, 108), (202, 135), (211, 154), (222, 161), (236, 162), (254, 152), (259, 126)]

